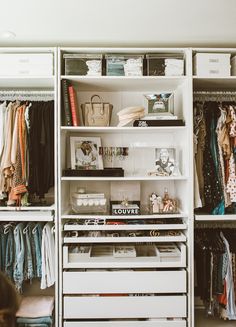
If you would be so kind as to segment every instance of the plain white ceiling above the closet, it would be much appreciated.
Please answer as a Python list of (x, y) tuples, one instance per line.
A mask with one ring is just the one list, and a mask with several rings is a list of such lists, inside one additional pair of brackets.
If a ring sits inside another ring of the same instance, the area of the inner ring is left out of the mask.
[(236, 47), (235, 0), (2, 0), (0, 45)]

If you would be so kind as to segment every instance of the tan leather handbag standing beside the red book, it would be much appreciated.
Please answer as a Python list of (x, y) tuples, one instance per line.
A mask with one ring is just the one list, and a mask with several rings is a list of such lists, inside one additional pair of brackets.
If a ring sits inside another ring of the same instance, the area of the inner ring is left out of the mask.
[[(99, 98), (99, 102), (94, 102), (95, 97)], [(90, 102), (81, 105), (84, 126), (109, 126), (113, 105), (103, 102), (101, 97), (94, 94)]]

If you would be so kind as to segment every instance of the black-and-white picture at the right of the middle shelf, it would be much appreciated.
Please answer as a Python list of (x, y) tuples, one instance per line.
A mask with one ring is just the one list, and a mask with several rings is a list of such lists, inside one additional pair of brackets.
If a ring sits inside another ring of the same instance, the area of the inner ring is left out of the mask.
[(179, 176), (175, 148), (155, 149), (156, 176)]

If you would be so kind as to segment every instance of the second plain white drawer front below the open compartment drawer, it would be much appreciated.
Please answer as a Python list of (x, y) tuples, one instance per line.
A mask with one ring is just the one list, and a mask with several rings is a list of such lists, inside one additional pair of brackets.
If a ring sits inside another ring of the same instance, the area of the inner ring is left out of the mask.
[(186, 296), (65, 296), (64, 319), (185, 318)]

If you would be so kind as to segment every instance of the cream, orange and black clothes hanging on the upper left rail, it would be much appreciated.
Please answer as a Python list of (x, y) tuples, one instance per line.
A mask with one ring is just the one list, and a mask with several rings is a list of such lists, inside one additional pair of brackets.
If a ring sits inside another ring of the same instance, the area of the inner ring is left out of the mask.
[(0, 130), (0, 199), (41, 202), (54, 186), (54, 101), (3, 102)]

